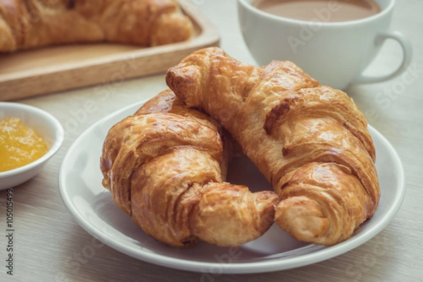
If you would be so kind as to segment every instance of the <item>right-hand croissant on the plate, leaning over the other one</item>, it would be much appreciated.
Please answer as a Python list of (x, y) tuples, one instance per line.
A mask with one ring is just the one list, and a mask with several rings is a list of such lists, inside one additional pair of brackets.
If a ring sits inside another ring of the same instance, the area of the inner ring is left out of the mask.
[(334, 245), (374, 214), (375, 148), (364, 115), (344, 92), (290, 61), (260, 68), (219, 48), (186, 57), (168, 70), (166, 83), (239, 142), (278, 194), (275, 221), (293, 238)]

